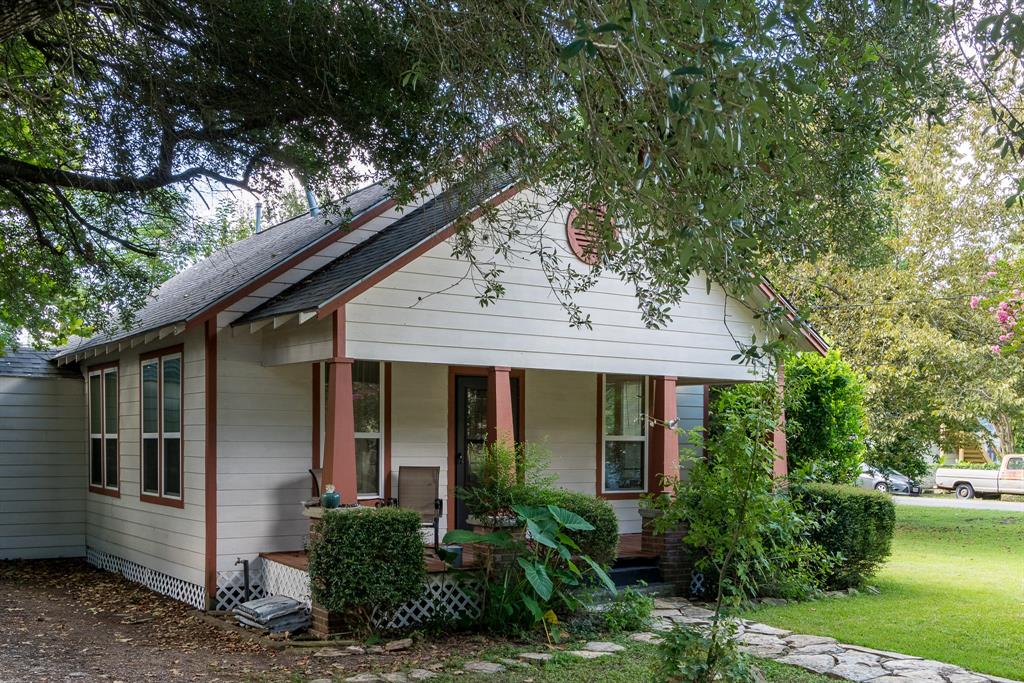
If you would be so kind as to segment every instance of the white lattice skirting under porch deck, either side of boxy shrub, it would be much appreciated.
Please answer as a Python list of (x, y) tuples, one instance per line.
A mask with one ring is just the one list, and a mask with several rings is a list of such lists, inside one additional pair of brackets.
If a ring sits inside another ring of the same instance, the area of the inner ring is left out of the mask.
[[(402, 629), (433, 620), (476, 618), (480, 615), (483, 583), (476, 574), (443, 572), (427, 574), (423, 595), (400, 605), (393, 612), (378, 610), (375, 626)], [(287, 595), (311, 603), (309, 573), (280, 562), (263, 560), (263, 589), (266, 595)]]

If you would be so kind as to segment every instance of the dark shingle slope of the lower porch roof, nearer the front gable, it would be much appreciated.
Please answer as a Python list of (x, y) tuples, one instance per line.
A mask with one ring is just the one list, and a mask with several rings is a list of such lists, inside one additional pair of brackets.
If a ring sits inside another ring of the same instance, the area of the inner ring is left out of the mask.
[(241, 316), (236, 324), (318, 308), (430, 239), (514, 180), (515, 176), (511, 173), (498, 173), (486, 186), (467, 193), (450, 190), (438, 195), (278, 296), (263, 302)]

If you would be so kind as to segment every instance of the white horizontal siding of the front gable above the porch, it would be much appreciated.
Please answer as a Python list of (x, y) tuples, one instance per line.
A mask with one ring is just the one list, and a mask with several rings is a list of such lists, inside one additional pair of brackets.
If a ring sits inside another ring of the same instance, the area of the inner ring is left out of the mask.
[[(514, 201), (520, 199), (538, 201), (529, 193)], [(566, 213), (555, 208), (521, 227), (524, 232), (542, 231), (565, 251)], [(575, 263), (567, 253), (565, 258)], [(674, 307), (673, 321), (665, 329), (649, 330), (637, 311), (632, 288), (605, 274), (591, 291), (574, 296), (593, 322), (591, 330), (574, 330), (537, 257), (514, 254), (496, 265), (506, 293), (481, 307), (476, 287), (466, 276), (467, 264), (452, 256), (452, 245), (431, 249), (346, 305), (348, 354), (412, 362), (750, 379), (750, 371), (731, 356), (735, 340), (749, 340), (755, 330), (753, 315), (742, 304), (727, 301), (719, 288), (708, 294), (699, 278)], [(291, 346), (318, 350), (312, 332), (295, 334), (305, 339), (290, 336)], [(267, 356), (275, 361), (285, 357), (273, 349)]]

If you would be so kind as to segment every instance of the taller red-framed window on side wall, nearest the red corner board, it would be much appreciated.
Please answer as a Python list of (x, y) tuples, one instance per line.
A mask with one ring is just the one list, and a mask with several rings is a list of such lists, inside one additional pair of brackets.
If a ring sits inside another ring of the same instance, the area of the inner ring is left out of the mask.
[(180, 505), (181, 347), (142, 356), (142, 500)]

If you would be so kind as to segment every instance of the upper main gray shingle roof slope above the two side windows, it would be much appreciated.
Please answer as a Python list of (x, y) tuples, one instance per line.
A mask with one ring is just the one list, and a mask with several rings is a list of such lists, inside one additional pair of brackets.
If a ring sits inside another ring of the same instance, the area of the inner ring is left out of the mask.
[(303, 214), (221, 249), (174, 275), (154, 293), (135, 314), (129, 329), (73, 339), (57, 355), (127, 339), (169, 325), (184, 323), (217, 301), (273, 269), (314, 242), (327, 237), (344, 221), (366, 213), (389, 197), (378, 182), (346, 196), (313, 216)]

